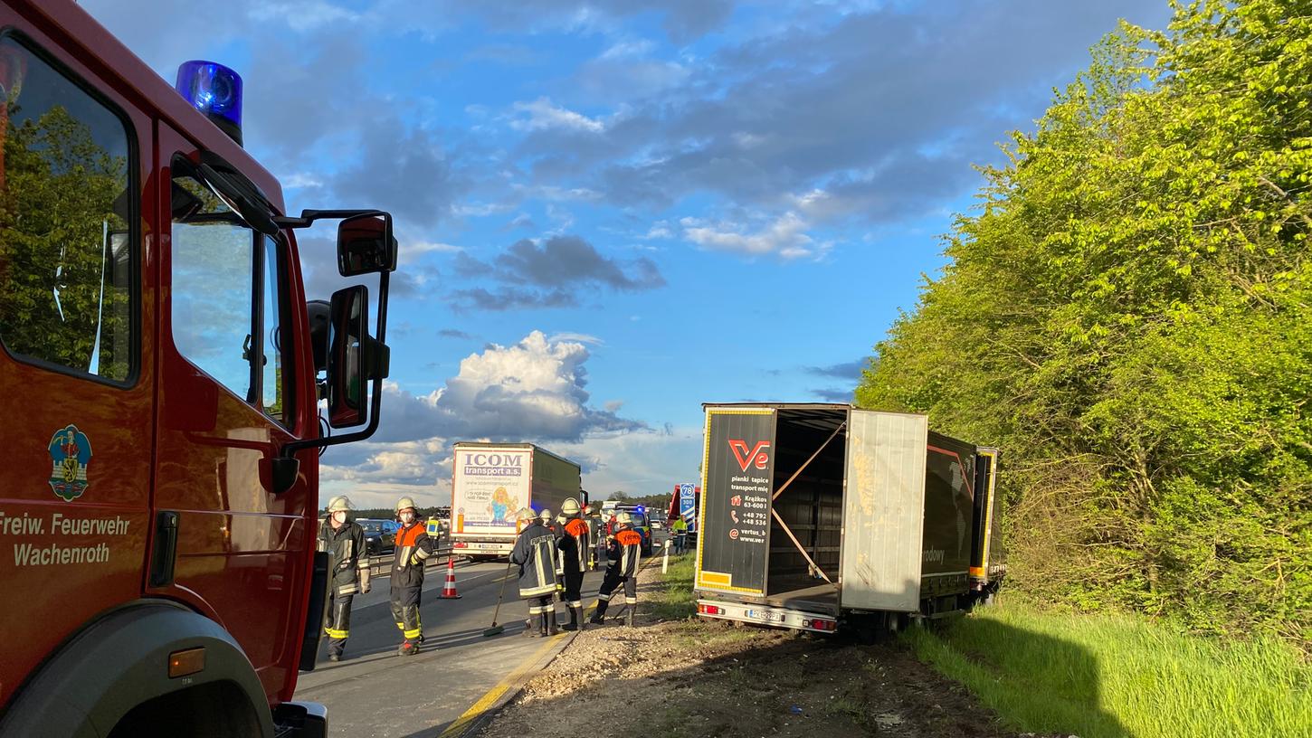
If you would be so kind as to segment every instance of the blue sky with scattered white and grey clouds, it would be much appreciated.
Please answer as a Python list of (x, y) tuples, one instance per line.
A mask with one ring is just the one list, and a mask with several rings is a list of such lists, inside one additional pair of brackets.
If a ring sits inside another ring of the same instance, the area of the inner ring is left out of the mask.
[[(596, 498), (666, 492), (706, 401), (846, 401), (972, 204), (1118, 18), (1165, 0), (85, 0), (165, 79), (245, 80), (289, 210), (395, 214), (357, 505), (449, 498), (450, 444), (533, 440)], [(329, 232), (302, 240), (312, 296)]]

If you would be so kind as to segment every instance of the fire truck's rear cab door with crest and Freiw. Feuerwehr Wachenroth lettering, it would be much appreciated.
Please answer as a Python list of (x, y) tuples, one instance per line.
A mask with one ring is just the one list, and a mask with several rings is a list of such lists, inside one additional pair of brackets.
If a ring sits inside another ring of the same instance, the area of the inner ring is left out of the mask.
[[(13, 676), (140, 595), (157, 229), (150, 118), (12, 9), (0, 26), (0, 662)], [(0, 705), (20, 684), (0, 684)]]

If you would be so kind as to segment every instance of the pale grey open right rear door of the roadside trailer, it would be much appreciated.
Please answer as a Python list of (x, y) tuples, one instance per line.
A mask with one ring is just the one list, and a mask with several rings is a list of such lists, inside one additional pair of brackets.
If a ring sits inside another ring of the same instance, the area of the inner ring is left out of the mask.
[(841, 606), (920, 607), (929, 418), (851, 410), (844, 499)]

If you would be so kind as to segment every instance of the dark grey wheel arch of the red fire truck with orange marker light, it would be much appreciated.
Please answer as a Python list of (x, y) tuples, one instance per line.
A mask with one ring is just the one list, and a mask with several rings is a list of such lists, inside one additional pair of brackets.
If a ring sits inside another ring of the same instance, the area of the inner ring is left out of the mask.
[[(169, 654), (199, 646), (205, 648), (205, 669), (169, 679)], [(139, 600), (64, 641), (14, 695), (0, 717), (0, 737), (105, 737), (134, 708), (190, 691), (222, 695), (230, 700), (222, 708), (237, 708), (234, 720), (249, 725), (249, 734), (272, 738), (264, 687), (232, 636), (180, 604)], [(249, 707), (249, 713), (241, 707)], [(135, 714), (142, 717), (139, 710)]]

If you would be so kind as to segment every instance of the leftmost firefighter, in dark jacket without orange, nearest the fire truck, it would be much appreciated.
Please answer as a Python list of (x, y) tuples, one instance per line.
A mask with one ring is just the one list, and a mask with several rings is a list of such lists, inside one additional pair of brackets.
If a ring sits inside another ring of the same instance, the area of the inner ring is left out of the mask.
[(369, 591), (369, 557), (365, 530), (346, 518), (350, 501), (345, 495), (328, 502), (328, 520), (319, 526), (318, 549), (328, 553), (328, 610), (324, 612), (324, 634), (328, 636), (328, 661), (341, 661), (350, 636), (350, 602)]

